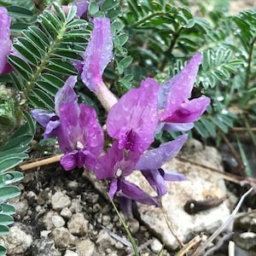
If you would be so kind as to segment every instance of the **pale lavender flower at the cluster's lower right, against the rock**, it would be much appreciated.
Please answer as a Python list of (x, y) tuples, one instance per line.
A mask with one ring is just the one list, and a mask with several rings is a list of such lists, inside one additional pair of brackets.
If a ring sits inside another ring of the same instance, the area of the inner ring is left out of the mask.
[(161, 166), (166, 161), (172, 160), (183, 147), (188, 135), (181, 135), (172, 142), (162, 143), (159, 148), (148, 150), (137, 162), (136, 169), (143, 173), (151, 187), (158, 195), (165, 195), (165, 181), (182, 181), (186, 177), (177, 172), (164, 171)]

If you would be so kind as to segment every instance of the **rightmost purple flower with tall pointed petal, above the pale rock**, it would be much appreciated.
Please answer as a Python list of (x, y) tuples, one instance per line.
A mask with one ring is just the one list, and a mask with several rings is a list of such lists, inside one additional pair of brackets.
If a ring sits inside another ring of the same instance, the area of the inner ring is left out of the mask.
[(180, 73), (160, 86), (158, 108), (160, 129), (188, 131), (210, 104), (207, 96), (189, 101), (201, 64), (201, 53), (195, 54)]

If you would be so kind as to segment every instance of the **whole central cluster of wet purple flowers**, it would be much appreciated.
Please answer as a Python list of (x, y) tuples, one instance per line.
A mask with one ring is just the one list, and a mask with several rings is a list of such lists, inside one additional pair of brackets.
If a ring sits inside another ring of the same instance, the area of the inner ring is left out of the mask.
[[(80, 2), (81, 3), (81, 2)], [(85, 3), (85, 2), (84, 2)], [(85, 4), (86, 5), (86, 4)], [(87, 6), (84, 6), (87, 8)], [(57, 137), (63, 152), (61, 165), (65, 170), (85, 166), (96, 178), (108, 179), (109, 196), (119, 195), (125, 207), (131, 201), (160, 206), (159, 198), (166, 194), (166, 181), (182, 181), (182, 174), (164, 170), (183, 147), (187, 135), (172, 142), (150, 148), (159, 131), (188, 131), (210, 104), (207, 96), (189, 100), (201, 54), (195, 54), (187, 66), (164, 84), (144, 79), (119, 100), (102, 79), (104, 69), (113, 57), (113, 38), (108, 18), (94, 18), (90, 42), (81, 55), (84, 61), (74, 62), (81, 79), (94, 91), (108, 111), (107, 132), (113, 138), (108, 151), (103, 151), (102, 127), (96, 112), (78, 103), (74, 90), (77, 77), (69, 77), (55, 96), (55, 113), (32, 110), (32, 116), (45, 127), (44, 137)], [(127, 177), (141, 172), (156, 192), (148, 195)]]

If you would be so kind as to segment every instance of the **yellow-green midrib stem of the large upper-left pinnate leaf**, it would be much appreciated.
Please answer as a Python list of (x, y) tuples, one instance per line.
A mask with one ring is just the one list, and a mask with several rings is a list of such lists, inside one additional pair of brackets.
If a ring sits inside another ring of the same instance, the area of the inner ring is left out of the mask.
[(57, 45), (61, 43), (64, 32), (66, 31), (66, 26), (67, 26), (67, 23), (64, 22), (63, 26), (61, 27), (61, 30), (59, 31), (58, 35), (55, 38), (54, 43), (49, 46), (48, 51), (44, 55), (44, 59), (41, 60), (40, 66), (37, 67), (36, 72), (32, 75), (32, 78), (30, 79), (30, 81), (27, 81), (26, 86), (25, 86), (25, 90), (24, 90), (25, 100), (27, 100), (27, 98), (29, 97), (29, 95), (30, 95), (33, 87), (35, 86), (39, 76), (41, 75), (41, 73), (44, 71), (44, 68), (48, 64), (50, 56), (54, 53)]

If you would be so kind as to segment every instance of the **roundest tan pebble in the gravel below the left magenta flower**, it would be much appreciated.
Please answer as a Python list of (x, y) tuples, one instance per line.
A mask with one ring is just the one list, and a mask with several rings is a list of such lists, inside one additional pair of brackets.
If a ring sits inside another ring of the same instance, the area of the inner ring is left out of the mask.
[(77, 236), (84, 236), (88, 233), (88, 220), (84, 218), (83, 213), (75, 213), (67, 223), (68, 230)]

